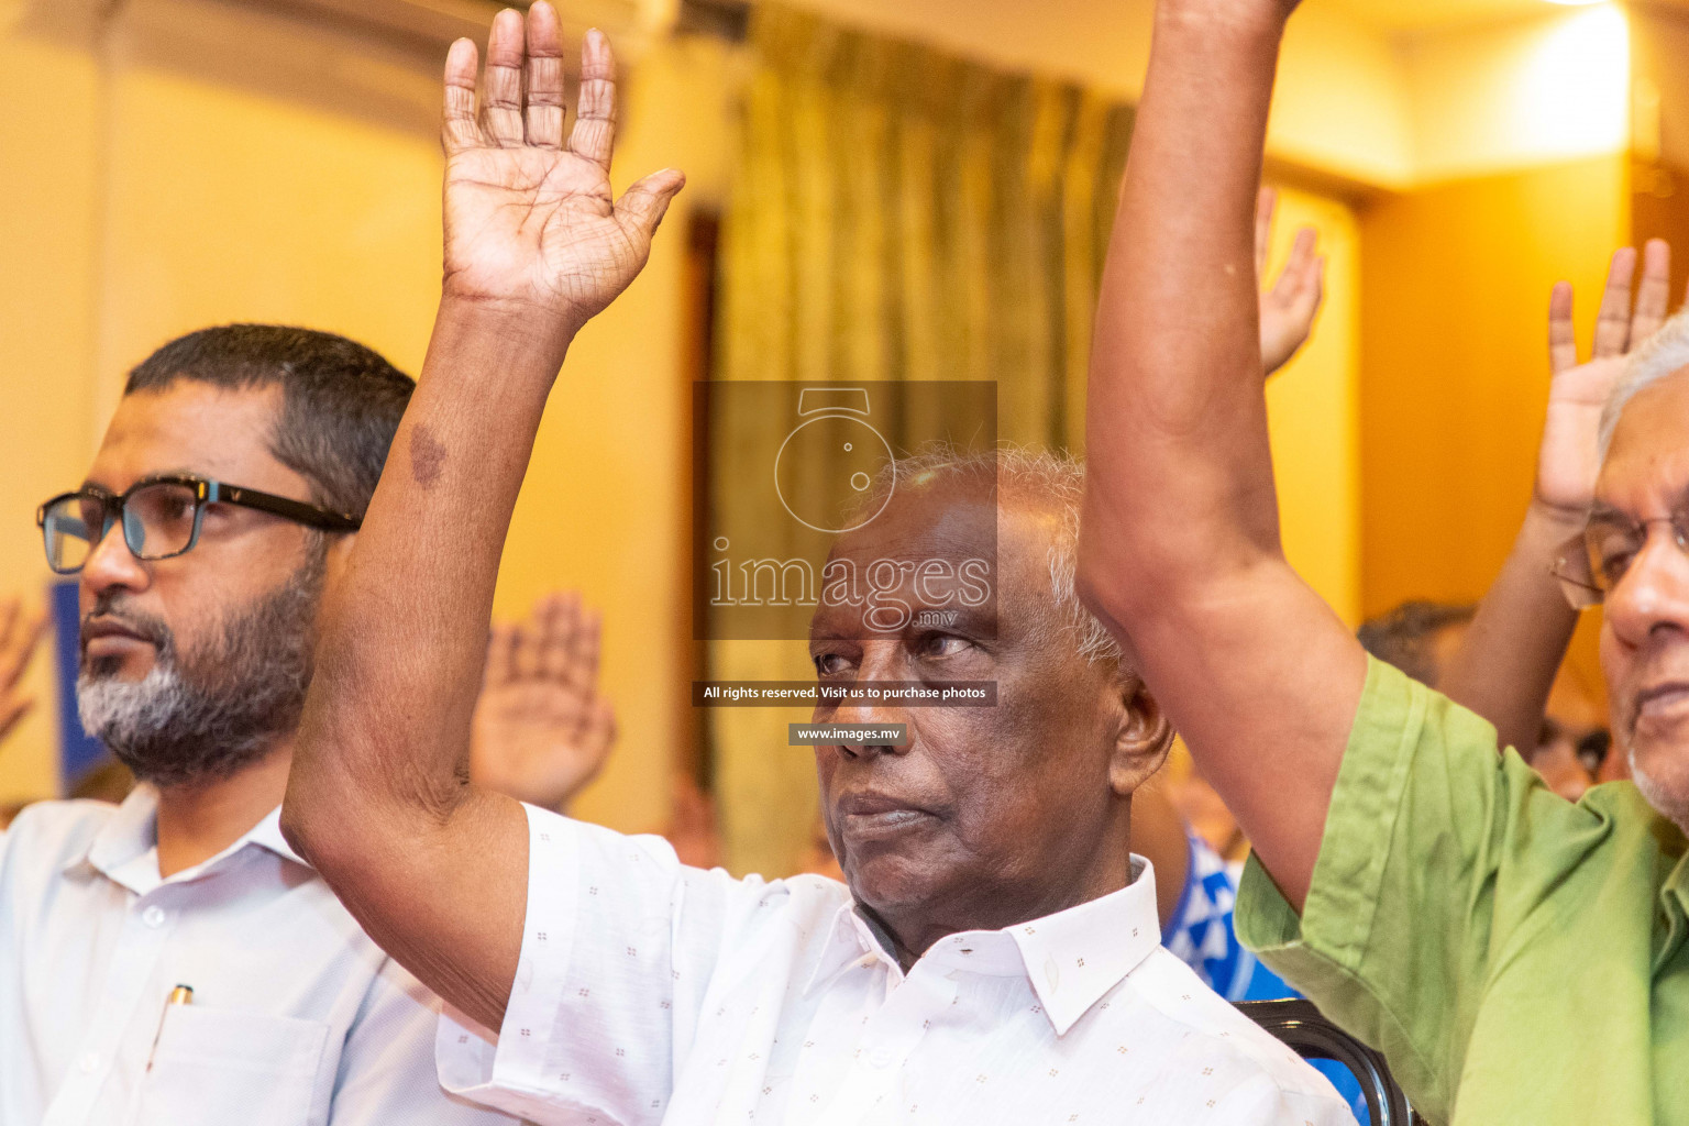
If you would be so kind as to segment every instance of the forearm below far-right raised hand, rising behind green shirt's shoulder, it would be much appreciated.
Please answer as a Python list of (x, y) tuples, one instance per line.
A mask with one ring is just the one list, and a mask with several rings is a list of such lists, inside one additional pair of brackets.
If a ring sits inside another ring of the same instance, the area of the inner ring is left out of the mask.
[(1579, 520), (1532, 505), (1459, 650), (1437, 687), (1495, 724), (1500, 746), (1530, 755), (1578, 614), (1549, 566)]

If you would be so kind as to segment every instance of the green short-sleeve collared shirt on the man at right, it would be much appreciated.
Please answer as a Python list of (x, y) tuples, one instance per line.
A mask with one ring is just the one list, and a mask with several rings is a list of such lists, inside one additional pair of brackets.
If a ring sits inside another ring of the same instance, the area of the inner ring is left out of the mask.
[(1632, 783), (1572, 805), (1371, 662), (1306, 908), (1252, 859), (1238, 934), (1434, 1123), (1689, 1124), (1684, 851)]

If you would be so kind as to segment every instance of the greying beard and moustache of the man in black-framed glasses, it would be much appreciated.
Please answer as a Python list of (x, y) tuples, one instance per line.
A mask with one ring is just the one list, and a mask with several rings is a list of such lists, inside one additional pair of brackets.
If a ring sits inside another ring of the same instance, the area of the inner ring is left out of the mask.
[(83, 657), (76, 711), (135, 778), (160, 788), (240, 773), (294, 733), (311, 685), (316, 609), (326, 545), (287, 582), (226, 616), (191, 653), (159, 618), (101, 598), (91, 613), (118, 620), (154, 645), (140, 680), (118, 680), (117, 662)]

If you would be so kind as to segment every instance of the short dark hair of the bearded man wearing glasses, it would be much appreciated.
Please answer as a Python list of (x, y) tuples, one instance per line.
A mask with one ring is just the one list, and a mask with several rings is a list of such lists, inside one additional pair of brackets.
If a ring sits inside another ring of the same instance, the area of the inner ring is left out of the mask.
[[(125, 395), (196, 380), (226, 390), (282, 388), (270, 452), (311, 481), (318, 505), (363, 517), (415, 382), (378, 353), (333, 333), (225, 324), (179, 336), (147, 356)], [(236, 481), (240, 485), (240, 481)]]

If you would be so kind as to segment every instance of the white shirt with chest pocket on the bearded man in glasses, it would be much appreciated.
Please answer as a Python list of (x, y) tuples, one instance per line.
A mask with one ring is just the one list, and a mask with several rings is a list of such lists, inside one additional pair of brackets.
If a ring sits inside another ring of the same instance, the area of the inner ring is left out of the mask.
[(439, 1089), (437, 1001), (275, 812), (169, 880), (155, 812), (42, 802), (0, 837), (0, 1126), (508, 1126)]

